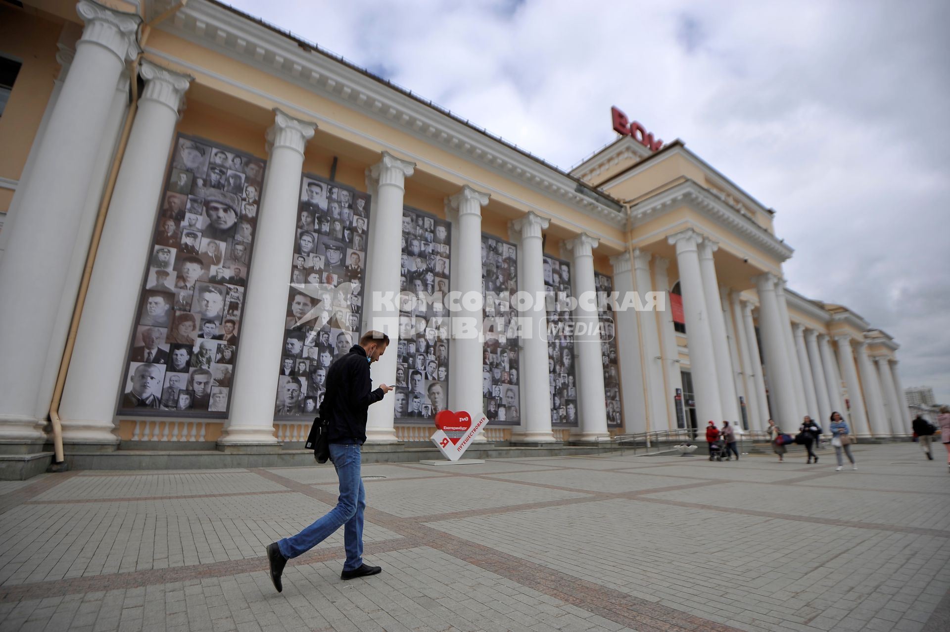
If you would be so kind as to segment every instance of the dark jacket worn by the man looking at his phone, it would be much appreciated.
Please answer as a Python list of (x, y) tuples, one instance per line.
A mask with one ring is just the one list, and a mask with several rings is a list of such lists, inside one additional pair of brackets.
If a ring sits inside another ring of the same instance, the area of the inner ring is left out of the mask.
[(320, 417), (330, 421), (330, 443), (366, 441), (366, 412), (383, 398), (383, 390), (371, 390), (370, 362), (366, 350), (353, 345), (350, 353), (330, 365), (327, 391), (320, 404)]

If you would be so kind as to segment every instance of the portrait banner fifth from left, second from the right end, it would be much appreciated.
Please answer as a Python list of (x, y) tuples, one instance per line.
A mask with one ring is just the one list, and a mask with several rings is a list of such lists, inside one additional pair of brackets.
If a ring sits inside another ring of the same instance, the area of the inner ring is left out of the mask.
[[(568, 297), (571, 292), (571, 264), (562, 259), (544, 256), (544, 291), (548, 293), (547, 373), (551, 392), (551, 426), (577, 428), (578, 380), (575, 373), (574, 333), (567, 325), (573, 323)], [(570, 332), (570, 333), (568, 333)]]

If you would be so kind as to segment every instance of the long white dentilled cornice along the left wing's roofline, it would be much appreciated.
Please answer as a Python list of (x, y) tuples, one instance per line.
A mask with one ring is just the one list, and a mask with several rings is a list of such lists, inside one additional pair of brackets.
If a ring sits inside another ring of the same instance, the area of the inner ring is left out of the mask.
[[(236, 10), (192, 0), (159, 28), (199, 46), (218, 50), (283, 81), (306, 87), (610, 226), (625, 226), (626, 219), (621, 212), (593, 199), (602, 193), (587, 188), (553, 165), (525, 155), (438, 105), (424, 103), (398, 86), (373, 78), (342, 58), (335, 59)], [(608, 198), (604, 196), (604, 200)]]

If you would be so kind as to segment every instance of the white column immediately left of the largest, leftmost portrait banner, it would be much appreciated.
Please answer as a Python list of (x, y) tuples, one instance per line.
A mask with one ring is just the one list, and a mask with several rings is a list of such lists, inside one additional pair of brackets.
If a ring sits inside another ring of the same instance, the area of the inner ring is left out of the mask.
[(127, 339), (117, 333), (127, 331), (135, 318), (142, 269), (151, 255), (155, 201), (161, 198), (168, 148), (191, 81), (147, 61), (139, 71), (145, 86), (112, 190), (63, 389), (64, 443), (119, 443), (112, 433), (113, 414)]

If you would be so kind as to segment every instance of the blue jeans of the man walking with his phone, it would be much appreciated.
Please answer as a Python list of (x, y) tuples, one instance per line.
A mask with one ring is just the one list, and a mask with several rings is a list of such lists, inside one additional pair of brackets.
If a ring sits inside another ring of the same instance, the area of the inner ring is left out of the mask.
[(343, 570), (354, 570), (363, 565), (363, 510), (366, 508), (366, 489), (360, 478), (360, 446), (332, 443), (330, 457), (340, 479), (340, 496), (336, 500), (336, 507), (294, 537), (279, 541), (277, 547), (285, 558), (295, 558), (343, 527), (343, 545), (347, 551)]

